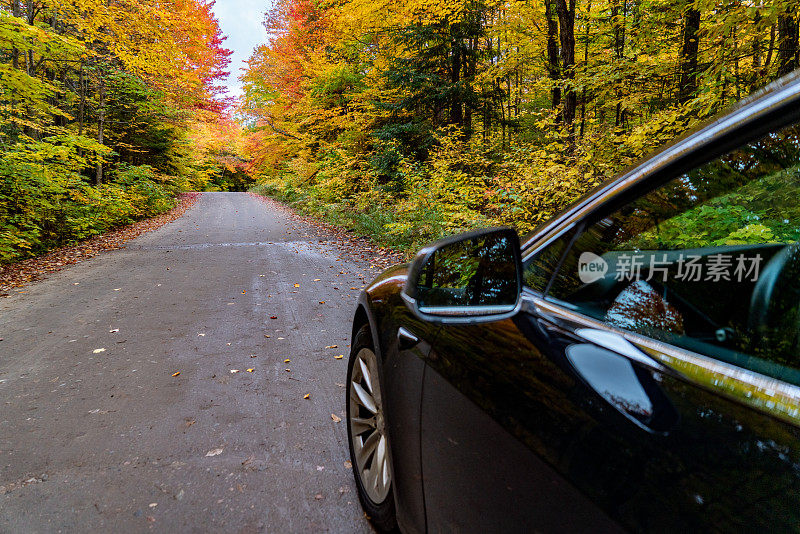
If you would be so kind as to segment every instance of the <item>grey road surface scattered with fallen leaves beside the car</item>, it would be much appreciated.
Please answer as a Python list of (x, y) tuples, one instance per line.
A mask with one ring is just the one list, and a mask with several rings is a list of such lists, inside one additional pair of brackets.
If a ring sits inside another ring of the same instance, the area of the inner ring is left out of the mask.
[(0, 299), (0, 531), (370, 532), (343, 386), (378, 270), (212, 193)]

